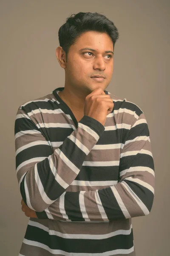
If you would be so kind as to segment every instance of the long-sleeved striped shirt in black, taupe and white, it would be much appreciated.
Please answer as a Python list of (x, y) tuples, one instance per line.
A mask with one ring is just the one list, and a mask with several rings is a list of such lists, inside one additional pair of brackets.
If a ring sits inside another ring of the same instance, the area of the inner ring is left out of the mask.
[(113, 99), (105, 125), (77, 122), (52, 93), (18, 108), (17, 180), (30, 218), (20, 256), (135, 256), (131, 218), (148, 215), (154, 162), (143, 111)]

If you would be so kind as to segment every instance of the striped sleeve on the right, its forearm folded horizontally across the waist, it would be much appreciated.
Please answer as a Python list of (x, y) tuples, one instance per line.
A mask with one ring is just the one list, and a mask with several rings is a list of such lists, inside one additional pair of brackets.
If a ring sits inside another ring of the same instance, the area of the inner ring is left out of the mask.
[(133, 122), (120, 152), (119, 182), (95, 191), (64, 192), (38, 218), (60, 221), (112, 221), (148, 215), (155, 173), (144, 113)]

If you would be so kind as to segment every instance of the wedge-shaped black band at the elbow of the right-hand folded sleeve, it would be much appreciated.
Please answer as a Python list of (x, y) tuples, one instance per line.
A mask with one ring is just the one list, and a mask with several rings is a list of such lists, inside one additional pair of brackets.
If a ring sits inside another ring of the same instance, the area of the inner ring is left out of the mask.
[(133, 192), (140, 198), (140, 200), (145, 204), (147, 209), (151, 210), (153, 205), (153, 192), (151, 192), (149, 189), (145, 188), (139, 183), (136, 183), (132, 180), (124, 180), (128, 186), (130, 186), (130, 189), (133, 190)]

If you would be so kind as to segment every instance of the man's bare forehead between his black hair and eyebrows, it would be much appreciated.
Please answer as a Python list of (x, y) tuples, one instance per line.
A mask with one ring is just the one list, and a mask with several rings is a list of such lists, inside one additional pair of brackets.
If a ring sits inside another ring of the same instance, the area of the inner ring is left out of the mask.
[(97, 51), (113, 51), (113, 41), (107, 33), (88, 31), (77, 38), (75, 44), (71, 47), (75, 51), (85, 47), (91, 47)]

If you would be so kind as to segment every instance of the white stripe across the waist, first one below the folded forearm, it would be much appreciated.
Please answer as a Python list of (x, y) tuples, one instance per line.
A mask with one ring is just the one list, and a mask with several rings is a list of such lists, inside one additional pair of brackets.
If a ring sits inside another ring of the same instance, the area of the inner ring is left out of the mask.
[(30, 221), (28, 222), (28, 225), (33, 226), (33, 227), (38, 227), (46, 232), (49, 233), (49, 235), (54, 235), (54, 236), (59, 236), (65, 239), (93, 239), (93, 240), (102, 240), (102, 239), (107, 239), (113, 236), (117, 235), (130, 235), (132, 231), (132, 224), (130, 225), (129, 230), (116, 230), (111, 233), (106, 233), (106, 234), (67, 234), (67, 233), (61, 233), (55, 230), (49, 230), (48, 227), (45, 227), (44, 225), (40, 224), (39, 222), (35, 221)]

